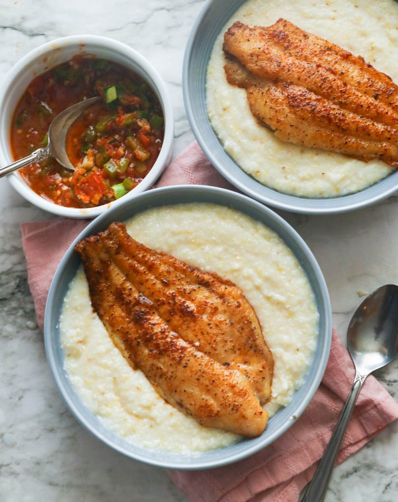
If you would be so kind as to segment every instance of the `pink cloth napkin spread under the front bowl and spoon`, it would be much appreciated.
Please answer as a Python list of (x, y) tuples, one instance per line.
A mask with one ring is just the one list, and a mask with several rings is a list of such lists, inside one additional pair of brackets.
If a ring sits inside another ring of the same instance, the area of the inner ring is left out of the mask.
[[(157, 186), (185, 183), (232, 188), (196, 143), (171, 163)], [(22, 224), (29, 285), (40, 327), (58, 263), (87, 223), (87, 220), (56, 219)], [(168, 474), (191, 502), (296, 502), (330, 438), (353, 376), (348, 352), (333, 333), (322, 383), (303, 415), (282, 437), (232, 465), (191, 472), (169, 470)], [(338, 462), (359, 450), (396, 418), (398, 404), (369, 376), (341, 445)]]

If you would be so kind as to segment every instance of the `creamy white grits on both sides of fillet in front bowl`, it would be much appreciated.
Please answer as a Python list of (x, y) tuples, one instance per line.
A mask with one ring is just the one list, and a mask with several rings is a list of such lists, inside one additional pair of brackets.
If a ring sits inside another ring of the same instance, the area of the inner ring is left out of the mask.
[[(284, 242), (262, 223), (224, 206), (184, 204), (150, 209), (126, 222), (143, 244), (235, 282), (254, 307), (272, 350), (272, 416), (302, 384), (312, 359), (318, 313), (307, 277)], [(210, 429), (163, 401), (133, 370), (93, 313), (80, 269), (60, 324), (65, 369), (83, 403), (104, 425), (149, 449), (196, 454), (240, 436)]]

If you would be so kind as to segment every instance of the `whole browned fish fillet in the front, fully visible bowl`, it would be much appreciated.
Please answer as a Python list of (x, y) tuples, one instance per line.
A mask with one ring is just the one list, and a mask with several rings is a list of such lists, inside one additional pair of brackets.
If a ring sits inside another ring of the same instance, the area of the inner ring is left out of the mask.
[[(76, 250), (94, 310), (123, 356), (163, 399), (207, 427), (249, 437), (264, 431), (268, 414), (254, 391), (269, 397), (273, 359), (239, 288), (146, 248), (121, 223), (83, 239)], [(229, 322), (235, 324), (228, 330)]]

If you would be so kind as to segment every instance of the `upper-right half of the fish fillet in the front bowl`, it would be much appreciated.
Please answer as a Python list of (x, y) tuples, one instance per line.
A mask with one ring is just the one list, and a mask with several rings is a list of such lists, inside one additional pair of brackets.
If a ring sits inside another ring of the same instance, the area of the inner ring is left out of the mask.
[(242, 290), (217, 274), (190, 267), (132, 239), (124, 225), (108, 229), (112, 261), (149, 298), (170, 329), (245, 375), (260, 403), (271, 397), (274, 360)]

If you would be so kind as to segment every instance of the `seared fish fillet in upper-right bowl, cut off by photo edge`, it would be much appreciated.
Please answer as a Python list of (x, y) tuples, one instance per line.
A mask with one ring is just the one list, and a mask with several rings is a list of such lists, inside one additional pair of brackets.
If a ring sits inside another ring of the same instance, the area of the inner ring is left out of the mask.
[(398, 87), (361, 57), (283, 19), (234, 23), (224, 50), (228, 81), (279, 139), (398, 165)]

